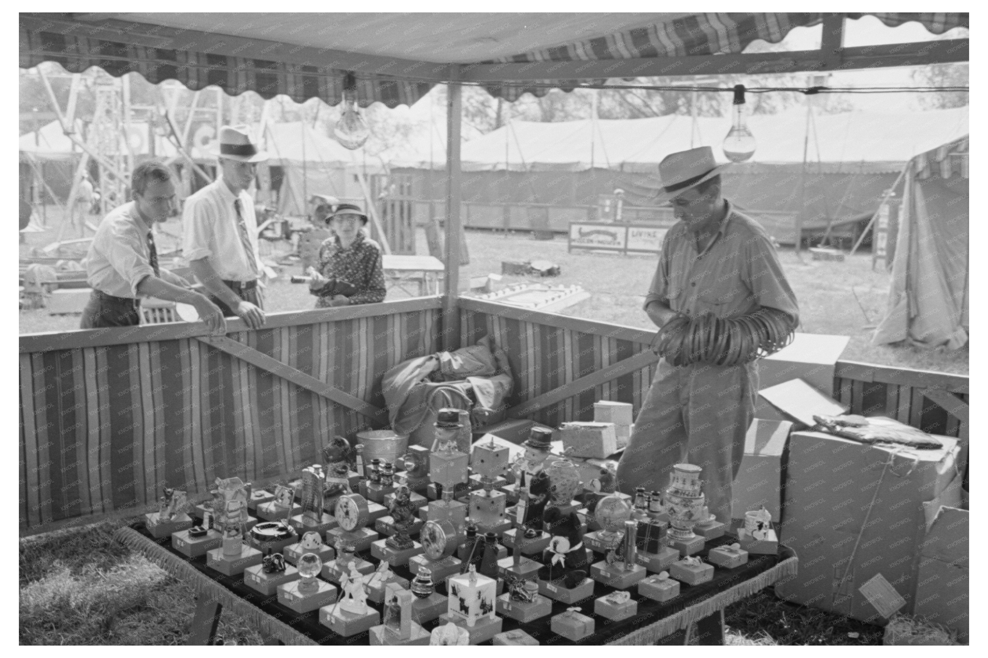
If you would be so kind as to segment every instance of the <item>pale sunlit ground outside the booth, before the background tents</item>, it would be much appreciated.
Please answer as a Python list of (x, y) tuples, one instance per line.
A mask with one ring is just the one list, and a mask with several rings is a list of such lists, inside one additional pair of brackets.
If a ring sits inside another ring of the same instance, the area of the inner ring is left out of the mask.
[[(55, 239), (60, 213), (48, 207), (48, 226), (44, 233), (27, 233), (27, 243), (21, 245), (21, 255), (28, 256), (32, 247), (41, 247)], [(95, 223), (98, 217), (92, 218)], [(181, 233), (178, 219), (161, 226), (164, 234), (158, 238), (159, 252), (178, 247)], [(90, 233), (91, 234), (91, 233)], [(175, 236), (172, 238), (171, 236)], [(73, 236), (74, 237), (74, 236)], [(423, 231), (419, 231), (418, 253), (427, 254)], [(582, 286), (592, 296), (560, 311), (566, 315), (586, 317), (632, 327), (651, 329), (652, 325), (641, 310), (645, 292), (655, 272), (656, 257), (622, 256), (574, 251), (567, 253), (565, 236), (552, 240), (534, 240), (530, 233), (493, 233), (466, 231), (470, 263), (460, 269), (460, 279), (501, 273), (505, 260), (549, 260), (560, 266), (559, 277), (539, 280), (544, 283)], [(285, 243), (268, 244), (274, 252), (285, 252)], [(797, 256), (791, 248), (779, 252), (782, 268), (796, 293), (800, 308), (799, 331), (817, 334), (837, 334), (850, 337), (842, 358), (900, 368), (939, 370), (966, 374), (967, 349), (955, 352), (917, 350), (911, 347), (874, 346), (871, 332), (885, 311), (889, 275), (878, 268), (872, 270), (869, 253), (856, 254), (843, 262), (814, 261), (803, 252)], [(167, 266), (167, 260), (163, 263)], [(288, 266), (267, 290), (268, 311), (294, 311), (312, 308), (314, 297), (305, 286), (288, 283), (292, 274), (300, 274), (299, 266)], [(527, 281), (523, 277), (506, 276), (501, 285)], [(535, 281), (533, 279), (532, 281)], [(400, 288), (390, 288), (388, 299), (409, 296)], [(49, 315), (46, 309), (21, 311), (21, 333), (70, 331), (79, 326), (78, 315)]]

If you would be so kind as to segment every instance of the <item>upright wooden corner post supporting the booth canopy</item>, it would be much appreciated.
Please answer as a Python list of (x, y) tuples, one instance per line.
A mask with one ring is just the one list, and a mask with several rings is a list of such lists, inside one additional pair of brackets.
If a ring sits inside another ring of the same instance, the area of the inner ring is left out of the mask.
[(456, 306), (459, 288), (459, 249), (460, 226), (459, 210), (462, 199), (459, 171), (459, 138), (462, 123), (462, 86), (459, 79), (459, 65), (450, 65), (450, 80), (447, 92), (447, 187), (446, 187), (446, 295), (443, 298), (443, 349), (459, 347), (459, 309)]

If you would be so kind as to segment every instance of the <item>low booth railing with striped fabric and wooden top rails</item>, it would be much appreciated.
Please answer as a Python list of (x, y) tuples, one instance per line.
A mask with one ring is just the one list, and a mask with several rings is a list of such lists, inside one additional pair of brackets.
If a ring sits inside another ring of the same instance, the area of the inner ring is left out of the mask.
[[(654, 332), (457, 300), (459, 344), (489, 335), (511, 367), (508, 416), (590, 420), (601, 399), (640, 408)], [(201, 497), (216, 477), (265, 483), (320, 459), (336, 434), (386, 427), (381, 375), (442, 349), (441, 297), (240, 320), (20, 338), (20, 529), (145, 511), (163, 485)], [(962, 375), (838, 362), (835, 397), (966, 445)]]

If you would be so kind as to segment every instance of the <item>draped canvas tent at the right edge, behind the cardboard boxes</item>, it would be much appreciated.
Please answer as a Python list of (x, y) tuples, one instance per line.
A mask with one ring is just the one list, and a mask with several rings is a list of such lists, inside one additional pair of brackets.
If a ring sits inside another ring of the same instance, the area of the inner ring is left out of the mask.
[(906, 165), (888, 308), (873, 343), (948, 350), (967, 343), (968, 158), (965, 135)]

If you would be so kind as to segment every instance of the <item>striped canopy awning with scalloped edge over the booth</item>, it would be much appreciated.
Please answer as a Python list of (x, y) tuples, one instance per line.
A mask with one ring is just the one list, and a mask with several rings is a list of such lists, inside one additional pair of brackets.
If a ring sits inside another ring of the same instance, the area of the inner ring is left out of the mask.
[[(889, 26), (918, 21), (934, 34), (968, 25), (968, 15), (958, 13), (870, 15)], [(415, 17), (426, 16), (415, 14), (271, 14), (263, 20), (257, 14), (223, 14), (221, 26), (205, 32), (204, 24), (209, 25), (209, 21), (203, 16), (21, 14), (20, 66), (30, 68), (55, 61), (73, 73), (99, 66), (114, 76), (135, 71), (152, 83), (175, 79), (193, 90), (217, 85), (233, 96), (251, 90), (266, 99), (283, 94), (298, 103), (318, 97), (336, 105), (342, 100), (347, 68), (332, 53), (367, 54), (382, 62), (374, 65), (381, 72), (358, 73), (360, 104), (380, 102), (395, 107), (415, 103), (445, 80), (444, 72), (451, 63), (469, 66), (470, 62), (655, 60), (733, 54), (742, 52), (752, 41), (782, 41), (793, 28), (817, 25), (824, 15), (432, 15), (450, 17), (442, 19), (449, 29), (436, 30), (430, 29), (428, 21), (410, 25)], [(856, 19), (864, 14), (847, 16)], [(289, 30), (289, 23), (298, 27)], [(532, 29), (524, 25), (529, 23), (534, 24)], [(554, 23), (558, 29), (546, 28)], [(340, 29), (351, 25), (356, 27), (349, 33)], [(326, 27), (317, 29), (320, 26)], [(623, 28), (616, 31), (618, 26)], [(276, 30), (279, 27), (282, 29)], [(605, 30), (604, 35), (587, 39), (595, 27)], [(367, 37), (348, 39), (354, 32)], [(496, 37), (486, 33), (496, 33)], [(537, 47), (505, 55), (506, 47), (522, 44), (513, 41), (516, 33), (524, 33), (525, 44)], [(243, 44), (230, 47), (236, 42)], [(331, 52), (325, 54), (327, 51)], [(513, 101), (526, 92), (544, 95), (547, 85), (569, 90), (579, 82), (549, 79), (534, 85), (507, 81), (485, 87), (491, 94)]]

